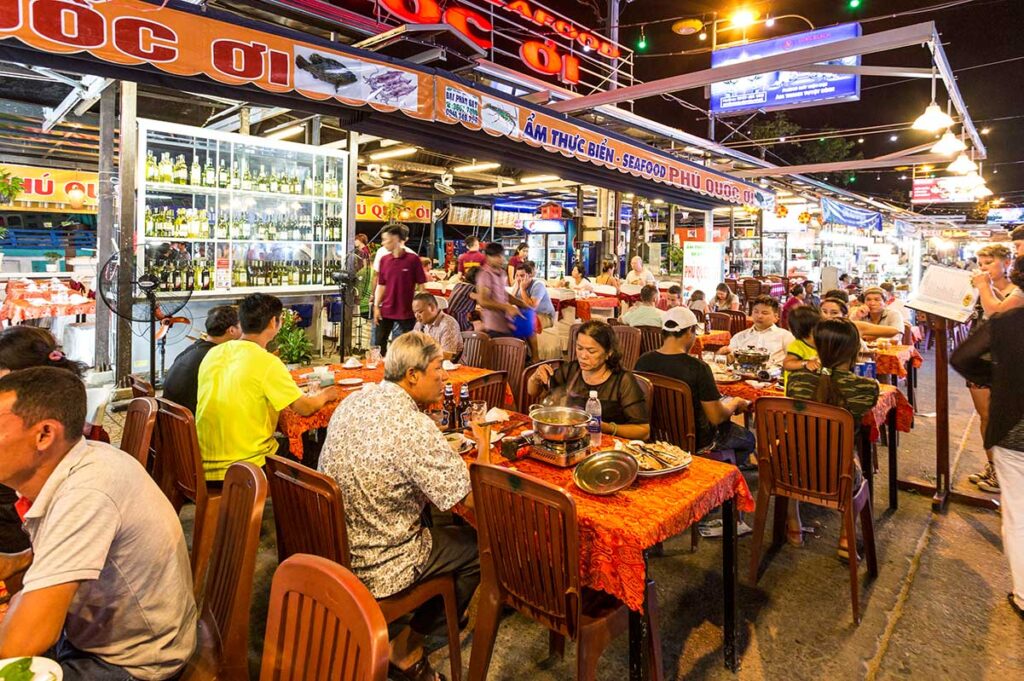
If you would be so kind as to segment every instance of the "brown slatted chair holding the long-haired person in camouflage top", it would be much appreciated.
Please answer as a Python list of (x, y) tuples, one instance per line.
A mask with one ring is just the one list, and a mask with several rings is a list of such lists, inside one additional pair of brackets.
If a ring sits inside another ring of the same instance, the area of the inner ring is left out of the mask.
[(857, 580), (857, 522), (864, 533), (867, 572), (879, 573), (874, 526), (867, 480), (853, 488), (854, 424), (839, 407), (788, 397), (762, 397), (755, 402), (758, 428), (758, 503), (751, 547), (751, 582), (760, 577), (761, 549), (768, 503), (775, 497), (773, 545), (785, 536), (786, 499), (839, 511), (850, 547), (850, 601), (860, 623)]

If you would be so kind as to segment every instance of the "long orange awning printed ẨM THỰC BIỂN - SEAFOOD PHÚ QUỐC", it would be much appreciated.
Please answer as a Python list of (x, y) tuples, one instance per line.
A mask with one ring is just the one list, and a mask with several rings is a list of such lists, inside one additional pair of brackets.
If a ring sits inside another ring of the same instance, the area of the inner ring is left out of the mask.
[(4, 3), (0, 58), (339, 116), (353, 130), (693, 209), (773, 200), (756, 184), (446, 72), (173, 0)]

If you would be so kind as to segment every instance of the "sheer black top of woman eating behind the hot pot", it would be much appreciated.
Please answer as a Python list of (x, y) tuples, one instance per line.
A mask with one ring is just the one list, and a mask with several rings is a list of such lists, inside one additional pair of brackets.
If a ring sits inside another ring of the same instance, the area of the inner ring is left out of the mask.
[(566, 403), (578, 409), (587, 407), (591, 390), (597, 390), (601, 400), (601, 419), (607, 423), (650, 423), (650, 413), (643, 390), (633, 374), (612, 372), (604, 383), (589, 385), (583, 380), (580, 363), (559, 367), (548, 384), (549, 394), (564, 396)]

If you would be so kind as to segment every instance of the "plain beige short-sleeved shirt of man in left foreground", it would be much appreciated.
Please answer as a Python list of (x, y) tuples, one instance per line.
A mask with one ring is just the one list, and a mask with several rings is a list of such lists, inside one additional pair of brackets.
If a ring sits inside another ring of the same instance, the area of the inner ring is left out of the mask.
[(184, 535), (138, 462), (79, 440), (25, 514), (33, 562), (25, 591), (78, 582), (65, 634), (132, 678), (166, 679), (196, 647)]

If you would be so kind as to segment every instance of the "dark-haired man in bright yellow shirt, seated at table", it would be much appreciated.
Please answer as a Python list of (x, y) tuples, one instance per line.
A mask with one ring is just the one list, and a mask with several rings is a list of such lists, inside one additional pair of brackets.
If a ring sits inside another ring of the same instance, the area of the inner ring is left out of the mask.
[(209, 481), (223, 480), (239, 461), (262, 466), (278, 451), (273, 433), (283, 409), (310, 416), (340, 396), (336, 386), (303, 395), (281, 359), (266, 351), (283, 310), (273, 296), (247, 296), (239, 305), (242, 338), (212, 348), (200, 366), (196, 430)]

